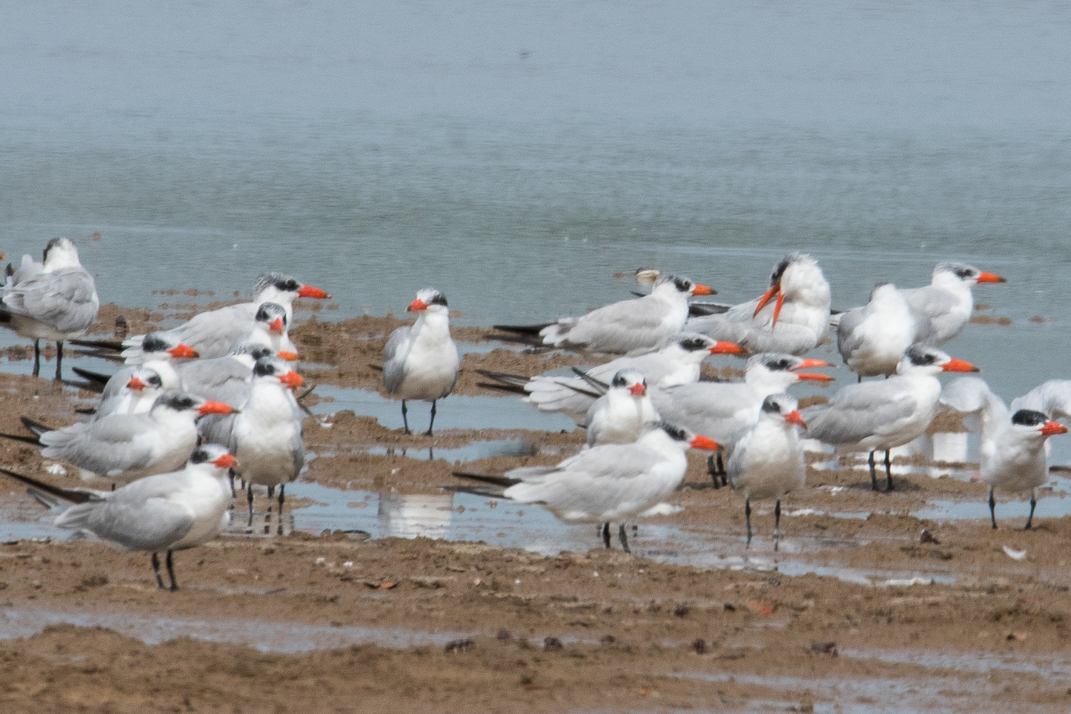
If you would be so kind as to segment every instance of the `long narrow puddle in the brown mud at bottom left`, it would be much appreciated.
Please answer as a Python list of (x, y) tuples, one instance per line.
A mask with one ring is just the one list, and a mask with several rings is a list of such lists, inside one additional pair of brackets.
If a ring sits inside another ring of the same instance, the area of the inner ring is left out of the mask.
[(378, 644), (405, 649), (422, 644), (442, 647), (470, 636), (463, 633), (429, 633), (402, 627), (358, 627), (345, 625), (305, 625), (258, 620), (198, 620), (141, 616), (133, 612), (50, 612), (47, 610), (2, 610), (0, 638), (30, 637), (48, 625), (72, 624), (79, 627), (107, 627), (134, 637), (146, 644), (160, 644), (179, 637), (206, 642), (248, 644), (261, 652), (297, 654), (352, 644)]

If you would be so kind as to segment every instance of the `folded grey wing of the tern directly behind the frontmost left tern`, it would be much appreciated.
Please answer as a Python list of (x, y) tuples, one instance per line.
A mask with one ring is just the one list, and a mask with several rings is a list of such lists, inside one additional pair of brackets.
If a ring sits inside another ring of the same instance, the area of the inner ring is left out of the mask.
[(64, 458), (102, 476), (145, 469), (152, 461), (156, 423), (148, 414), (110, 414), (91, 424), (41, 436), (43, 456)]

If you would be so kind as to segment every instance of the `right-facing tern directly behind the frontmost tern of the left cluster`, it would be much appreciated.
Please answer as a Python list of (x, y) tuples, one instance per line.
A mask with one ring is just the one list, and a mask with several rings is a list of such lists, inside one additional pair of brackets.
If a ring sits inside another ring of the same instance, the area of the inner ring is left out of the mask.
[(82, 478), (130, 482), (182, 468), (197, 446), (194, 422), (203, 414), (232, 411), (228, 405), (185, 392), (165, 392), (141, 414), (111, 414), (55, 430), (22, 422), (44, 446), (42, 456), (65, 459), (81, 469)]

